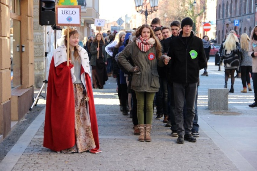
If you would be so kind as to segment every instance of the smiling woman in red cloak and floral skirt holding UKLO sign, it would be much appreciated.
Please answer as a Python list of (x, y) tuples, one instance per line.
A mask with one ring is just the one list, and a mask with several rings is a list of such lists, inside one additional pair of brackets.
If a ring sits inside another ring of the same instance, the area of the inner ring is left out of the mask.
[(43, 146), (57, 153), (99, 153), (88, 54), (78, 45), (78, 31), (68, 30), (50, 64)]

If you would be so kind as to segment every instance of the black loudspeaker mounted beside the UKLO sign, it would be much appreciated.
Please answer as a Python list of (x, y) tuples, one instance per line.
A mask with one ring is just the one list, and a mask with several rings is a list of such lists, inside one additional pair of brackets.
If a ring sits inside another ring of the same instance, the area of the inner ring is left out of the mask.
[(39, 24), (55, 25), (55, 0), (39, 1)]

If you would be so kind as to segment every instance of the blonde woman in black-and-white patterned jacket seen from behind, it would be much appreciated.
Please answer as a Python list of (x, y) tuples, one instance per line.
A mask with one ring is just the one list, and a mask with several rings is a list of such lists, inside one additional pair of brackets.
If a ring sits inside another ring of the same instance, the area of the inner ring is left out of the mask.
[(225, 85), (224, 88), (227, 89), (227, 80), (229, 75), (231, 76), (231, 88), (229, 90), (230, 93), (234, 92), (234, 82), (235, 77), (234, 73), (236, 69), (239, 67), (239, 61), (241, 58), (241, 48), (239, 45), (239, 40), (234, 33), (230, 33), (227, 36), (227, 39), (223, 43), (223, 50), (221, 52), (221, 60), (224, 60), (225, 67)]

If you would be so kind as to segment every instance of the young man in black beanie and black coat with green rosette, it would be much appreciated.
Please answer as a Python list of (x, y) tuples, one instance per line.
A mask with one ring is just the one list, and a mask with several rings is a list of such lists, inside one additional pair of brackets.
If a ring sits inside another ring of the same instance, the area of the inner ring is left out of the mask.
[[(207, 66), (202, 39), (193, 35), (193, 20), (186, 17), (181, 22), (182, 31), (179, 36), (170, 40), (168, 56), (164, 64), (169, 64), (173, 82), (175, 101), (175, 121), (178, 131), (177, 143), (184, 143), (184, 139), (195, 142), (191, 134), (194, 106), (197, 91), (199, 70)], [(186, 100), (187, 112), (185, 121), (183, 106)], [(185, 124), (184, 124), (185, 123)]]

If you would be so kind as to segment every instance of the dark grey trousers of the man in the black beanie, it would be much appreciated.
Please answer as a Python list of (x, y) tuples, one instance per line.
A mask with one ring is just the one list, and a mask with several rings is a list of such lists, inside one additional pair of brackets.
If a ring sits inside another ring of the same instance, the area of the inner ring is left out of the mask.
[[(195, 117), (195, 98), (197, 91), (196, 83), (176, 83), (173, 82), (175, 121), (178, 135), (191, 134), (193, 120)], [(186, 116), (184, 120), (183, 108), (186, 100)]]

